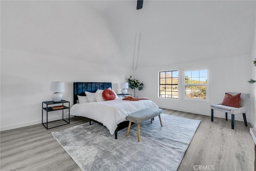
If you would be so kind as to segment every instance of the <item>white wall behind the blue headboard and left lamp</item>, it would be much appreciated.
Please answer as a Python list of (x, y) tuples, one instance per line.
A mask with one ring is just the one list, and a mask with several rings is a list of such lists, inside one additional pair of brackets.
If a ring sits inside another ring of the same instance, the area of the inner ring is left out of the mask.
[[(65, 83), (63, 99), (73, 104), (73, 82), (121, 82), (133, 75), (130, 68), (102, 65), (1, 49), (1, 131), (42, 122), (42, 101), (51, 100), (50, 82)], [(58, 117), (51, 112), (50, 118)]]

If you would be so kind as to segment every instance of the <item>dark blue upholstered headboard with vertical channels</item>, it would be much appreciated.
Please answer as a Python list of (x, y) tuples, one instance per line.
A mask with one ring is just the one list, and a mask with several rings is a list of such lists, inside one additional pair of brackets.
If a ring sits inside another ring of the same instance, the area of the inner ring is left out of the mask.
[(74, 82), (74, 104), (78, 100), (77, 95), (86, 96), (84, 91), (95, 93), (97, 89), (107, 89), (112, 83), (107, 82)]

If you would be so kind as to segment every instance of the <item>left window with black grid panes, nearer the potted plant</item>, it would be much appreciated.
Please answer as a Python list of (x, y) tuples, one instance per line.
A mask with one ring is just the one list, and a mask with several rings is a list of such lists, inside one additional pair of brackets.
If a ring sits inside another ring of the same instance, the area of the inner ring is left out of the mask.
[(178, 99), (178, 71), (159, 73), (159, 97)]

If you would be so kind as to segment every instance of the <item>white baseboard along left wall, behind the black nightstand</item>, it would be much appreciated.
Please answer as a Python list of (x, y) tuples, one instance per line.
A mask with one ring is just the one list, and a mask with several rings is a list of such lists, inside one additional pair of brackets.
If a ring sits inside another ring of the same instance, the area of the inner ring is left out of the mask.
[[(64, 118), (68, 117), (68, 115), (64, 115)], [(73, 115), (70, 115), (70, 117), (73, 117)], [(56, 116), (56, 117), (52, 117), (52, 118), (48, 118), (48, 122), (50, 121), (54, 121), (54, 120), (59, 120), (62, 119), (62, 116)], [(20, 128), (20, 127), (26, 127), (26, 126), (30, 126), (30, 125), (36, 125), (36, 124), (42, 124), (42, 119), (37, 120), (37, 121), (32, 121), (32, 122), (26, 122), (26, 123), (20, 123), (20, 124), (16, 124), (16, 125), (9, 125), (6, 127), (0, 127), (0, 131), (7, 131), (10, 129), (16, 129), (16, 128)], [(42, 125), (43, 127), (43, 125)]]

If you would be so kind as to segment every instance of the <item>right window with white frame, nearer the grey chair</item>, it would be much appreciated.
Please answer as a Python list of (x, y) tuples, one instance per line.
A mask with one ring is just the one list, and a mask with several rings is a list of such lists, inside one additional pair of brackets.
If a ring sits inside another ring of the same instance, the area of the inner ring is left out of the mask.
[(207, 70), (185, 71), (184, 86), (186, 98), (206, 99)]

